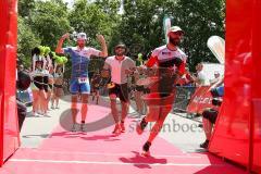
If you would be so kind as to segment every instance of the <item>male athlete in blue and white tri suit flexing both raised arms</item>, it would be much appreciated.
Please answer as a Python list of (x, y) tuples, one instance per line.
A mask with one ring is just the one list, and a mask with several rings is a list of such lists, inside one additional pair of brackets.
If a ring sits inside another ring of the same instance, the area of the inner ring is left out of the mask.
[(97, 39), (101, 45), (101, 51), (85, 47), (87, 37), (85, 33), (79, 33), (77, 35), (77, 47), (66, 47), (62, 48), (63, 41), (70, 37), (70, 34), (65, 34), (61, 37), (58, 42), (57, 53), (67, 53), (72, 59), (72, 77), (70, 90), (72, 94), (72, 116), (73, 116), (73, 127), (72, 130), (76, 130), (76, 115), (77, 115), (77, 95), (82, 95), (82, 125), (80, 128), (84, 130), (85, 119), (87, 116), (87, 102), (88, 95), (90, 94), (90, 85), (88, 78), (88, 64), (90, 61), (90, 57), (103, 57), (108, 55), (107, 45), (104, 37), (102, 35), (98, 35)]

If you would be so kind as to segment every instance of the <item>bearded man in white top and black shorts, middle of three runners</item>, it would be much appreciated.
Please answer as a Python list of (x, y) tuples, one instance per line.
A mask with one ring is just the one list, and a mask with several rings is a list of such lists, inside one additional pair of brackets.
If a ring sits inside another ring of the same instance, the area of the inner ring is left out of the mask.
[[(111, 112), (115, 122), (113, 134), (125, 132), (124, 121), (128, 111), (128, 84), (127, 74), (135, 67), (135, 62), (125, 55), (125, 45), (117, 45), (114, 48), (115, 55), (109, 57), (105, 60), (104, 70), (110, 70), (111, 83), (109, 87), (109, 96), (111, 100)], [(120, 98), (122, 104), (122, 116), (120, 120), (116, 109), (116, 98)]]

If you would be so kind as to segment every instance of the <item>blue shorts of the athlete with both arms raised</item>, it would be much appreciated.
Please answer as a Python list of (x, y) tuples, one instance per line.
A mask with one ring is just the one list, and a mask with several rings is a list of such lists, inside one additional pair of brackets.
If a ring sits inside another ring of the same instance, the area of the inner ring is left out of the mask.
[(78, 83), (77, 78), (72, 78), (70, 82), (70, 91), (72, 95), (90, 94), (89, 78), (86, 83)]

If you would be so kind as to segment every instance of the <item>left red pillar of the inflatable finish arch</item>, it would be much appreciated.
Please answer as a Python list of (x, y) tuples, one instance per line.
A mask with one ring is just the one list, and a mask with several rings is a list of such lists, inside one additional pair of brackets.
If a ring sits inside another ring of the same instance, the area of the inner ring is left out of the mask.
[(0, 1), (0, 165), (18, 148), (15, 98), (17, 0)]

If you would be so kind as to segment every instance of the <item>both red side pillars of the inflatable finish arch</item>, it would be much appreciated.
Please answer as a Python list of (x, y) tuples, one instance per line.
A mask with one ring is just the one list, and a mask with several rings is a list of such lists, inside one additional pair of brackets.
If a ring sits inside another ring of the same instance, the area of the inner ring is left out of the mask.
[[(0, 1), (0, 165), (18, 148), (17, 0)], [(225, 97), (210, 151), (261, 172), (261, 1), (226, 0)]]

